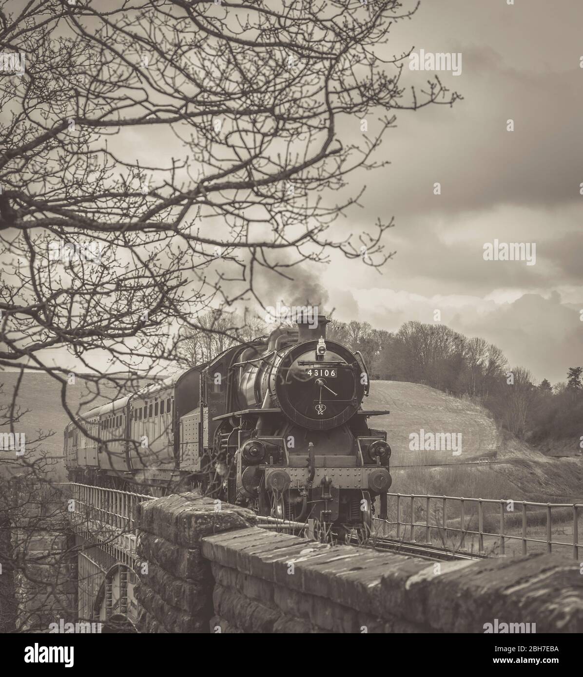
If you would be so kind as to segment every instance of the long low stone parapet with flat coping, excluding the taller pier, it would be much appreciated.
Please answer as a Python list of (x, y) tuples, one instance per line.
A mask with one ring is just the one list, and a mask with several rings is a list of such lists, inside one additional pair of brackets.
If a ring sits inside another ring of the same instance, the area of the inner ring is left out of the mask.
[(243, 529), (203, 539), (221, 632), (582, 632), (583, 576), (555, 555), (431, 563)]

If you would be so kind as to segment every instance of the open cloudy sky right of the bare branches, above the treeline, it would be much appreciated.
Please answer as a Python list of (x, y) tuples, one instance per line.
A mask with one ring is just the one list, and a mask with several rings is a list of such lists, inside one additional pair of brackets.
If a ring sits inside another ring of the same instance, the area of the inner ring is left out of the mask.
[[(396, 255), (382, 275), (358, 261), (325, 268), (336, 318), (396, 330), (440, 309), (539, 380), (583, 364), (582, 27), (580, 0), (425, 0), (395, 27), (391, 51), (462, 54), (460, 76), (440, 77), (464, 100), (403, 113), (388, 133), (391, 165), (363, 177), (350, 226), (394, 215)], [(536, 242), (535, 265), (484, 261), (494, 238)]]

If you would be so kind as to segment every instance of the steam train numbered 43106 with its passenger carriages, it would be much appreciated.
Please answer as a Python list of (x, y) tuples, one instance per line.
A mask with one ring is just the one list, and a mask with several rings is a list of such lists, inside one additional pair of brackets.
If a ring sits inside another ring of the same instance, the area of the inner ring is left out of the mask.
[[(364, 359), (323, 315), (81, 415), (64, 431), (71, 481), (197, 487), (260, 515), (367, 529), (386, 514), (390, 446), (364, 410)], [(87, 434), (86, 434), (87, 433)], [(155, 491), (154, 495), (157, 495)]]

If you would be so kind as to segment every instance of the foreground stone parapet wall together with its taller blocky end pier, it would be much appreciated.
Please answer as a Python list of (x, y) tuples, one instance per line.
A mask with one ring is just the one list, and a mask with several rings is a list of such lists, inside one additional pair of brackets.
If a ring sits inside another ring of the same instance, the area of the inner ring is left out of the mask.
[(432, 563), (329, 546), (195, 494), (139, 510), (142, 632), (583, 631), (579, 563), (555, 555)]

